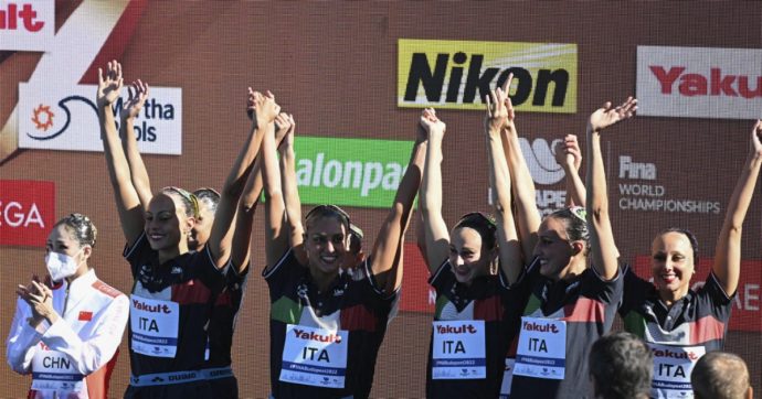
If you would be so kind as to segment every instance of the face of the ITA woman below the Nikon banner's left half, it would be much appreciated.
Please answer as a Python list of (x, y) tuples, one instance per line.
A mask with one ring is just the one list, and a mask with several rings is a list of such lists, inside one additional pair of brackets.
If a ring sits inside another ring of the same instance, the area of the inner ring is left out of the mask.
[(489, 274), (495, 251), (483, 248), (481, 235), (470, 227), (456, 227), (449, 238), (449, 265), (455, 279), (469, 285), (474, 279)]

